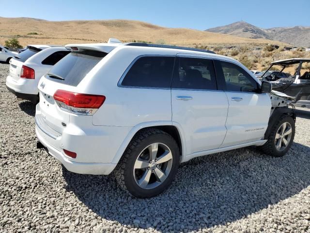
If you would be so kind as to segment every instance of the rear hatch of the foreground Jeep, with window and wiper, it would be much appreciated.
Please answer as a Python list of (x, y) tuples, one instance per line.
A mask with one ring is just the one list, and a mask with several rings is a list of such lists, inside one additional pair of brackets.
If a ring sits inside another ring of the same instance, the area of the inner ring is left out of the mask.
[(78, 84), (87, 76), (105, 56), (106, 52), (83, 50), (73, 51), (60, 60), (40, 80), (38, 88), (40, 92), (40, 120), (43, 124), (62, 134), (63, 125), (70, 120), (70, 110), (60, 107), (54, 95), (57, 90), (76, 92)]

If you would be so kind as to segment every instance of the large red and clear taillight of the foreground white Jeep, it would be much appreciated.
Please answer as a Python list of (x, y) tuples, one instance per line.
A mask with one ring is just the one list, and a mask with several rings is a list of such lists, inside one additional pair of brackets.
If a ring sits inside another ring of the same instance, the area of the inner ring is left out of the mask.
[(82, 115), (93, 115), (106, 100), (105, 96), (57, 90), (54, 100), (63, 110)]

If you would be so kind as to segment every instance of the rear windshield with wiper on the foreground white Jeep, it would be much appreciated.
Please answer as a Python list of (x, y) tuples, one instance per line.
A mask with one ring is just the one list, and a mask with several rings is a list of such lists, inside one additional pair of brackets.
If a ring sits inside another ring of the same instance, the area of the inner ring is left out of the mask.
[(57, 83), (77, 86), (106, 55), (105, 52), (93, 50), (71, 52), (50, 69), (47, 78)]

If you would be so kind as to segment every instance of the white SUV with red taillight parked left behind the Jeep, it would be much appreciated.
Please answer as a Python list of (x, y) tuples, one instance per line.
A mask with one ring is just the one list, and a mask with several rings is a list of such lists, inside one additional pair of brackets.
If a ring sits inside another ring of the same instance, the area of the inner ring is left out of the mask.
[(40, 78), (70, 51), (64, 47), (28, 46), (10, 60), (10, 72), (6, 78), (9, 91), (23, 100), (37, 103)]

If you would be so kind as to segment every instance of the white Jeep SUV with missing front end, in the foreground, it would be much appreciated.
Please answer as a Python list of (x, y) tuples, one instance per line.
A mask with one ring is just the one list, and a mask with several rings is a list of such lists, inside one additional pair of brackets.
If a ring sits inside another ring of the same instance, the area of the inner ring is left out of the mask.
[(38, 147), (69, 171), (113, 171), (148, 198), (194, 157), (253, 145), (282, 156), (291, 147), (290, 100), (236, 60), (143, 43), (66, 48), (39, 82), (35, 129)]

